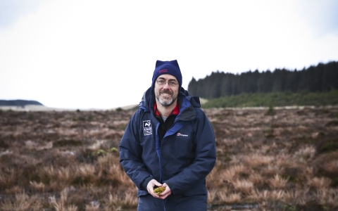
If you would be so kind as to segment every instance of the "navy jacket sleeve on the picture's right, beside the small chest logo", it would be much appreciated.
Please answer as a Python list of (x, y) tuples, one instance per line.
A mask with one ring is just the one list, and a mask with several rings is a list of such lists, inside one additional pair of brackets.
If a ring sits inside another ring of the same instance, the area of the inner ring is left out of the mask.
[[(196, 144), (195, 160), (192, 165), (165, 181), (173, 194), (187, 193), (189, 190), (199, 188), (195, 184), (201, 184), (215, 166), (216, 147), (213, 127), (203, 111), (198, 115), (197, 123), (193, 124), (194, 143)], [(205, 187), (204, 183), (203, 186)]]

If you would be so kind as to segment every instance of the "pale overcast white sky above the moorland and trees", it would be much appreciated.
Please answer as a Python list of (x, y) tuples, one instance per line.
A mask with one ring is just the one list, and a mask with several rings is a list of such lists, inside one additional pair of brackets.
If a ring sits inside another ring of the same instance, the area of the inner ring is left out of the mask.
[(338, 1), (0, 0), (0, 99), (138, 104), (156, 60), (174, 59), (185, 89), (217, 70), (338, 60)]

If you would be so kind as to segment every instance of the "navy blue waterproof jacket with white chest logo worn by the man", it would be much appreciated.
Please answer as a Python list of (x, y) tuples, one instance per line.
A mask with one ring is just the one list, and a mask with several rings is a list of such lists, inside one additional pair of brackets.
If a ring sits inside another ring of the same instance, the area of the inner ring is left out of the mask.
[[(154, 91), (149, 88), (132, 116), (120, 142), (120, 163), (137, 186), (137, 196), (149, 194), (144, 181), (166, 183), (175, 196), (207, 196), (206, 176), (215, 166), (215, 135), (199, 97), (182, 87), (180, 113), (173, 127), (158, 140)], [(150, 179), (149, 179), (150, 178)]]

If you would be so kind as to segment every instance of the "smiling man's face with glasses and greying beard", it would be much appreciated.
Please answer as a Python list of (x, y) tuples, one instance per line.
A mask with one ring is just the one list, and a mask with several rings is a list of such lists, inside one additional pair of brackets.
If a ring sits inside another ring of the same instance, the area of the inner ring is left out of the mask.
[[(165, 84), (160, 85), (158, 81), (164, 81)], [(170, 85), (170, 82), (175, 82), (176, 85), (173, 86), (173, 83)], [(154, 88), (156, 100), (165, 107), (172, 105), (177, 100), (178, 88), (179, 84), (175, 76), (168, 74), (158, 76)]]

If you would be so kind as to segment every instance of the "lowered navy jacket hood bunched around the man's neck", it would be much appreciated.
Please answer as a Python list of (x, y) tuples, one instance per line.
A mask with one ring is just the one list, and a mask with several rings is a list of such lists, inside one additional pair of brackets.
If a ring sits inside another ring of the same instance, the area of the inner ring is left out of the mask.
[[(177, 98), (186, 98), (187, 101), (191, 104), (192, 107), (194, 108), (200, 108), (201, 103), (199, 102), (199, 96), (192, 96), (189, 91), (185, 90), (183, 87), (180, 88), (180, 93), (178, 94)], [(139, 108), (142, 108), (145, 111), (151, 110), (154, 106), (154, 103), (156, 102), (155, 100), (155, 94), (154, 90), (149, 87), (147, 89), (143, 96), (142, 96), (142, 101), (139, 102)]]

